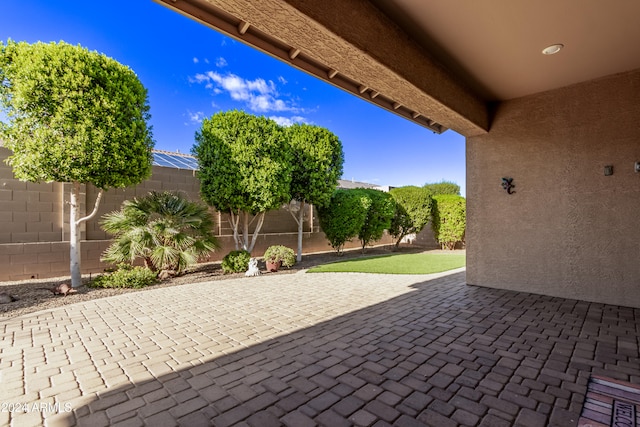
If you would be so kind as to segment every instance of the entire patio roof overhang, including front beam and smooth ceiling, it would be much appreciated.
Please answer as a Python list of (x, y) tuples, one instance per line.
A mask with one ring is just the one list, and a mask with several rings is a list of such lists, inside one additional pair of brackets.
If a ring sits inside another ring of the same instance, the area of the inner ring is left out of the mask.
[(637, 1), (155, 1), (437, 133), (483, 135), (502, 101), (640, 69)]

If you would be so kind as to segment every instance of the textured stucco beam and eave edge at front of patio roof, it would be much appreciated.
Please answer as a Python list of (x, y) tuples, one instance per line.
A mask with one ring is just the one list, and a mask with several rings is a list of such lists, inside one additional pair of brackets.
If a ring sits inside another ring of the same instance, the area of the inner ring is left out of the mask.
[(486, 102), (370, 2), (156, 1), (436, 133), (489, 129)]

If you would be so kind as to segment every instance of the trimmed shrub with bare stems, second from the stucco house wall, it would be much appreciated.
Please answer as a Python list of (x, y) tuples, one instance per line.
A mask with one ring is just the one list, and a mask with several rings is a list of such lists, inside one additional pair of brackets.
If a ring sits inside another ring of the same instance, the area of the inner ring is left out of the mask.
[(408, 234), (417, 234), (429, 223), (433, 199), (425, 187), (392, 188), (389, 193), (396, 202), (389, 233), (396, 239), (396, 248)]

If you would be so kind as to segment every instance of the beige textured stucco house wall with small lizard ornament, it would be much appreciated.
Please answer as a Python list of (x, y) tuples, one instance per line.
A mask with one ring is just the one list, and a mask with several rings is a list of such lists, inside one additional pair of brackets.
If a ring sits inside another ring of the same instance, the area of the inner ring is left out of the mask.
[(467, 282), (640, 307), (638, 161), (640, 70), (502, 103), (467, 140)]

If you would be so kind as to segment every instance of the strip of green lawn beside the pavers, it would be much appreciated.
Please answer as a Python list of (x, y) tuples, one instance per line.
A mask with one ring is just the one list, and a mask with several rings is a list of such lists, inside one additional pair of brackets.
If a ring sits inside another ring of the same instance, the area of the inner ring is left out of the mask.
[(309, 273), (384, 273), (430, 274), (464, 267), (464, 254), (420, 253), (382, 255), (356, 260), (346, 260), (319, 265)]

